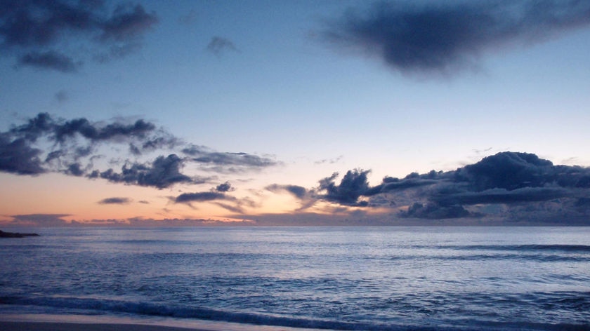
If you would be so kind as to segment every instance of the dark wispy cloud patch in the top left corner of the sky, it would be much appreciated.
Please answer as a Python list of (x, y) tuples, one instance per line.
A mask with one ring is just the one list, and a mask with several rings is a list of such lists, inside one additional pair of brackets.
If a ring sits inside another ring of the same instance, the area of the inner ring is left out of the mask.
[(139, 49), (143, 35), (158, 21), (140, 5), (117, 5), (109, 12), (103, 1), (5, 1), (0, 50), (16, 55), (18, 67), (77, 72), (84, 49), (93, 49), (102, 62), (120, 58)]

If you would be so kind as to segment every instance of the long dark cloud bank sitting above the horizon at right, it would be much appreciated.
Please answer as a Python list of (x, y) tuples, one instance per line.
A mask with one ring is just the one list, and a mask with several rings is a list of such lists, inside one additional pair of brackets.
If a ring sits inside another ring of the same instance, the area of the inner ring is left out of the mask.
[(320, 201), (330, 205), (388, 210), (392, 219), (585, 220), (590, 216), (590, 168), (553, 165), (535, 154), (505, 151), (457, 170), (384, 177), (371, 186), (369, 170), (337, 173), (305, 189), (272, 184), (287, 191), (303, 210)]

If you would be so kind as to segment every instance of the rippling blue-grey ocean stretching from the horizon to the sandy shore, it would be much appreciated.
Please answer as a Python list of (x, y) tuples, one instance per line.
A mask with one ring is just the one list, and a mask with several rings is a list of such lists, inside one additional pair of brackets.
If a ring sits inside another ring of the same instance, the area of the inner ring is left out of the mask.
[(32, 231), (0, 239), (5, 319), (590, 330), (590, 227)]

